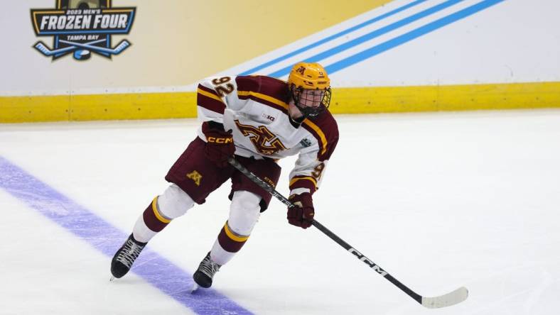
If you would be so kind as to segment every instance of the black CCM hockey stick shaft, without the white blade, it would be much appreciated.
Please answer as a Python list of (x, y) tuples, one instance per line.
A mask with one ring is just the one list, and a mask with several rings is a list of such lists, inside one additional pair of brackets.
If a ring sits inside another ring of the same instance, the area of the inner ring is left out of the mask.
[[(257, 177), (257, 175), (254, 175), (251, 171), (247, 170), (247, 168), (241, 165), (241, 163), (237, 162), (235, 158), (230, 157), (228, 161), (233, 167), (239, 170), (239, 172), (242, 172), (243, 175), (249, 177), (249, 179), (251, 179), (255, 184), (259, 185), (259, 187), (262, 187), (262, 189), (266, 190), (266, 192), (269, 192), (272, 196), (276, 197), (276, 199), (282, 201), (283, 204), (286, 204), (286, 206), (289, 207), (294, 206), (294, 204), (292, 204), (291, 201), (289, 201), (289, 199), (282, 196), (282, 194), (277, 192), (276, 189), (274, 189), (274, 187), (272, 187), (269, 183), (264, 182), (264, 180)], [(313, 220), (311, 224), (313, 224), (313, 226), (318, 228), (319, 231), (323, 232), (330, 239), (338, 243), (338, 245), (345, 248), (345, 250), (348, 250), (350, 253), (355, 255), (357, 259), (362, 260), (362, 262), (365, 262), (366, 265), (370, 266), (373, 270), (375, 270), (375, 272), (379, 273), (379, 275), (382, 275), (385, 279), (389, 280), (389, 282), (397, 286), (404, 293), (408, 294), (409, 297), (416, 300), (416, 302), (422, 304), (422, 297), (420, 294), (417, 294), (416, 292), (412, 291), (411, 289), (409, 289), (409, 287), (406, 287), (406, 285), (402, 284), (399, 280), (395, 279), (392, 275), (389, 275), (389, 273), (383, 270), (382, 267), (376, 265), (375, 262), (372, 262), (372, 260), (370, 260), (370, 258), (365, 257), (365, 255), (357, 251), (350, 244), (346, 243), (342, 238), (338, 237), (335, 233), (331, 232), (328, 228), (325, 228), (323, 224), (319, 223), (317, 220)]]

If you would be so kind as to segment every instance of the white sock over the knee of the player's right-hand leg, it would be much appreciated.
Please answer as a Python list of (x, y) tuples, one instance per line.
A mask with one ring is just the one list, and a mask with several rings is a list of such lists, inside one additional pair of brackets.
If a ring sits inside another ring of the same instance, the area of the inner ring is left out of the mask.
[(261, 197), (252, 192), (235, 192), (230, 208), (230, 218), (227, 225), (235, 233), (248, 236), (260, 216), (261, 207), (259, 202)]

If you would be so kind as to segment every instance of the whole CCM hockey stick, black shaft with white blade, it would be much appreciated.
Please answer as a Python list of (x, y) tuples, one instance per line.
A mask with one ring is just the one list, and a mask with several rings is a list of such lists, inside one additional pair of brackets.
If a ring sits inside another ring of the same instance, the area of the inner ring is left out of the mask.
[[(279, 199), (283, 204), (289, 207), (294, 206), (294, 204), (292, 204), (289, 199), (282, 196), (269, 183), (264, 182), (264, 180), (257, 177), (257, 175), (254, 175), (251, 171), (247, 170), (247, 168), (237, 162), (235, 158), (230, 157), (228, 162), (230, 162), (233, 167), (239, 170), (239, 172), (242, 172), (243, 175), (249, 177), (249, 179), (251, 179), (255, 184), (259, 185), (259, 187), (266, 190), (266, 192), (269, 192), (272, 196), (276, 197), (276, 199)], [(325, 235), (330, 237), (333, 241), (338, 243), (338, 245), (345, 248), (345, 250), (348, 250), (350, 253), (355, 255), (359, 260), (365, 262), (365, 264), (370, 266), (373, 270), (375, 270), (375, 272), (379, 273), (379, 275), (382, 275), (385, 279), (389, 280), (389, 282), (396, 285), (399, 289), (408, 294), (409, 297), (413, 298), (422, 306), (426, 306), (429, 309), (439, 309), (441, 307), (461, 303), (468, 297), (468, 290), (465, 287), (460, 287), (453, 292), (449, 292), (448, 294), (443, 294), (438, 297), (422, 297), (420, 294), (417, 294), (416, 292), (409, 289), (409, 287), (406, 287), (406, 285), (402, 284), (399, 280), (395, 279), (392, 275), (389, 275), (389, 272), (386, 272), (381, 267), (376, 265), (375, 262), (372, 262), (372, 260), (370, 260), (370, 258), (365, 257), (365, 255), (350, 246), (350, 244), (343, 241), (343, 239), (339, 238), (335, 233), (329, 231), (328, 228), (325, 228), (325, 226), (323, 226), (323, 224), (319, 223), (317, 220), (313, 220), (311, 224), (318, 228), (319, 231), (325, 233)]]

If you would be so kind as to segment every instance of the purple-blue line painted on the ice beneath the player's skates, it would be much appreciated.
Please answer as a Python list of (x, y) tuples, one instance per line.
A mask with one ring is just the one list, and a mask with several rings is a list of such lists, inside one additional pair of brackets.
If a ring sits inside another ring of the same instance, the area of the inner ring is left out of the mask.
[[(108, 257), (112, 257), (128, 237), (1, 156), (0, 187)], [(192, 275), (149, 248), (142, 251), (131, 271), (196, 314), (252, 314), (213, 289), (190, 294)], [(107, 281), (109, 276), (107, 260)]]

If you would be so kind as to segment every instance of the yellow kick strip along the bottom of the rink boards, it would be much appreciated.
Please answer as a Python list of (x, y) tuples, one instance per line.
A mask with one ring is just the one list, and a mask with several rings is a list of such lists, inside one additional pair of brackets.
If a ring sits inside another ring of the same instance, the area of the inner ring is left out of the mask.
[[(560, 108), (560, 82), (333, 89), (333, 114)], [(0, 123), (196, 117), (196, 92), (0, 96)]]

